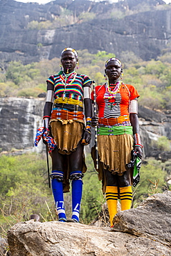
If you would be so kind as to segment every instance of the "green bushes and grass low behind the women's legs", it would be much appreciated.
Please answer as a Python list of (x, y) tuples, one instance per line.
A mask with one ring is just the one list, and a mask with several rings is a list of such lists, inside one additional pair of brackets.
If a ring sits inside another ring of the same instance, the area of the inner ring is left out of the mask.
[[(168, 165), (169, 166), (169, 165)], [(98, 216), (105, 202), (102, 185), (87, 156), (88, 170), (84, 175), (80, 221), (90, 223)], [(39, 154), (0, 157), (0, 233), (18, 221), (26, 221), (36, 213), (42, 221), (57, 219), (53, 195), (48, 188), (46, 157)], [(141, 167), (141, 182), (134, 192), (134, 207), (151, 192), (165, 190), (165, 163), (148, 159)], [(159, 182), (158, 182), (159, 180)], [(157, 185), (154, 185), (157, 181)], [(153, 184), (154, 183), (154, 184)], [(153, 186), (153, 187), (152, 187)], [(67, 216), (71, 216), (71, 192), (64, 195)]]

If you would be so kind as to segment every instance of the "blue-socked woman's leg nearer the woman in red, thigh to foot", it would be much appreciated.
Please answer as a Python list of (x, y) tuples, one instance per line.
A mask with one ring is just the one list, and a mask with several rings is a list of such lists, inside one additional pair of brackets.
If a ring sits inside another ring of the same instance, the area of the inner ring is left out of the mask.
[(72, 185), (72, 217), (75, 222), (79, 221), (80, 203), (82, 199), (82, 154), (84, 146), (79, 143), (78, 148), (69, 156), (71, 166), (71, 185)]

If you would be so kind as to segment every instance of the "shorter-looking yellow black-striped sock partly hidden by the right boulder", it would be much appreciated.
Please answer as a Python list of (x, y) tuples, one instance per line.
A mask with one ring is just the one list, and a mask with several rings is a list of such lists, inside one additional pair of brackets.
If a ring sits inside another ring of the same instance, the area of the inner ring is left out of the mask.
[(132, 186), (119, 189), (121, 210), (128, 210), (132, 206)]

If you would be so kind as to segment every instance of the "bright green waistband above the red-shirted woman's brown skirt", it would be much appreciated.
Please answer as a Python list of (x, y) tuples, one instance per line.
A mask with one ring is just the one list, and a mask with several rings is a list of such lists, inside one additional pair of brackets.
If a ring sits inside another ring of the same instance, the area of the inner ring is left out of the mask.
[(121, 134), (133, 134), (132, 126), (111, 126), (111, 127), (99, 127), (98, 135), (121, 135)]

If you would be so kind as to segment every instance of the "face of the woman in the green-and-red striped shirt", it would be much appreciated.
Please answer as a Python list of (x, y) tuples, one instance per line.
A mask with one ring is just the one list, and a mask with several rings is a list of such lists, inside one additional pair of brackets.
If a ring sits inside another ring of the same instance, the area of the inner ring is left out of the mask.
[(69, 70), (69, 73), (74, 71), (74, 68), (77, 64), (75, 53), (72, 51), (64, 51), (64, 53), (62, 53), (61, 63), (64, 68), (64, 73), (66, 73), (67, 70)]

